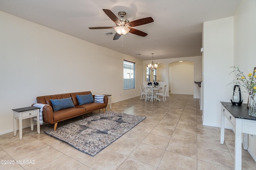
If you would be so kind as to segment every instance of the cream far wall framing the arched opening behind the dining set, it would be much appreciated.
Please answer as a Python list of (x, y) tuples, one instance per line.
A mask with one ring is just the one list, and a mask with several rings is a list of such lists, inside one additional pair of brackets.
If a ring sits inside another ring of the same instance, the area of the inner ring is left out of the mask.
[[(200, 50), (200, 49), (198, 49)], [(195, 56), (195, 57), (181, 57), (181, 58), (170, 58), (170, 59), (156, 59), (154, 60), (154, 63), (163, 63), (166, 66), (166, 74), (165, 74), (165, 81), (164, 82), (159, 82), (160, 86), (167, 85), (166, 91), (170, 91), (168, 83), (169, 83), (169, 68), (168, 65), (170, 63), (174, 63), (177, 61), (190, 61), (194, 63), (194, 81), (202, 81), (202, 56)], [(148, 63), (151, 63), (152, 61), (143, 61), (143, 65), (146, 65)], [(147, 85), (148, 82), (146, 82), (146, 70), (143, 70), (143, 80), (144, 80), (144, 86)], [(196, 90), (195, 90), (196, 89)], [(182, 94), (185, 94), (182, 93)], [(166, 94), (169, 95), (169, 94)], [(199, 90), (198, 90), (198, 85), (194, 84), (194, 98), (199, 98)]]

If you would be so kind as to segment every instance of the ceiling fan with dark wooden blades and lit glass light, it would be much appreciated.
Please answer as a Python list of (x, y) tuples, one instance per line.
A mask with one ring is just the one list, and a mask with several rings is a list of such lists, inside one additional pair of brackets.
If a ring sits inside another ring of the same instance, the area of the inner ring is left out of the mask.
[(145, 37), (146, 35), (148, 35), (147, 33), (144, 33), (138, 29), (134, 29), (132, 27), (136, 27), (139, 25), (144, 25), (147, 23), (151, 23), (153, 22), (153, 18), (151, 17), (147, 17), (147, 18), (142, 18), (139, 20), (134, 20), (134, 21), (129, 21), (126, 18), (124, 18), (124, 16), (126, 16), (126, 12), (124, 11), (119, 11), (118, 12), (118, 16), (120, 16), (120, 19), (118, 19), (116, 17), (116, 15), (111, 12), (110, 10), (106, 10), (103, 9), (103, 11), (107, 14), (107, 16), (114, 21), (114, 23), (116, 23), (116, 27), (89, 27), (89, 29), (110, 29), (110, 28), (114, 28), (116, 31), (116, 34), (113, 38), (113, 40), (117, 40), (121, 37), (121, 35), (125, 35), (126, 33), (130, 32), (133, 33), (135, 35), (139, 35), (142, 37)]

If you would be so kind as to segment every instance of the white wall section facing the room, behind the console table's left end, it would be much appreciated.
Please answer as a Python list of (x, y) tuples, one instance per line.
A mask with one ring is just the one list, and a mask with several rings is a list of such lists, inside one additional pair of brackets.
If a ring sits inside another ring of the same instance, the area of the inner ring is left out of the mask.
[(220, 127), (220, 102), (230, 102), (233, 77), (233, 17), (204, 22), (203, 124)]

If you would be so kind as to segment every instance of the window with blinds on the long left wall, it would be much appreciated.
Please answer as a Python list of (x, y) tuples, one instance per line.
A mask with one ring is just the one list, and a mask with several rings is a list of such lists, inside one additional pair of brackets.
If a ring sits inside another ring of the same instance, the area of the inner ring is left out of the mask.
[(124, 90), (135, 88), (135, 63), (124, 60)]

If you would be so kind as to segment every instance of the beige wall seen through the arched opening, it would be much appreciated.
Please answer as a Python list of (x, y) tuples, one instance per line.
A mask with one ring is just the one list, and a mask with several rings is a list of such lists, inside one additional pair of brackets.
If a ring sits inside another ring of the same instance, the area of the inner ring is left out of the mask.
[[(169, 64), (172, 94), (194, 94), (194, 63), (189, 61)], [(198, 86), (198, 85), (196, 85)], [(199, 87), (198, 87), (199, 88)]]

